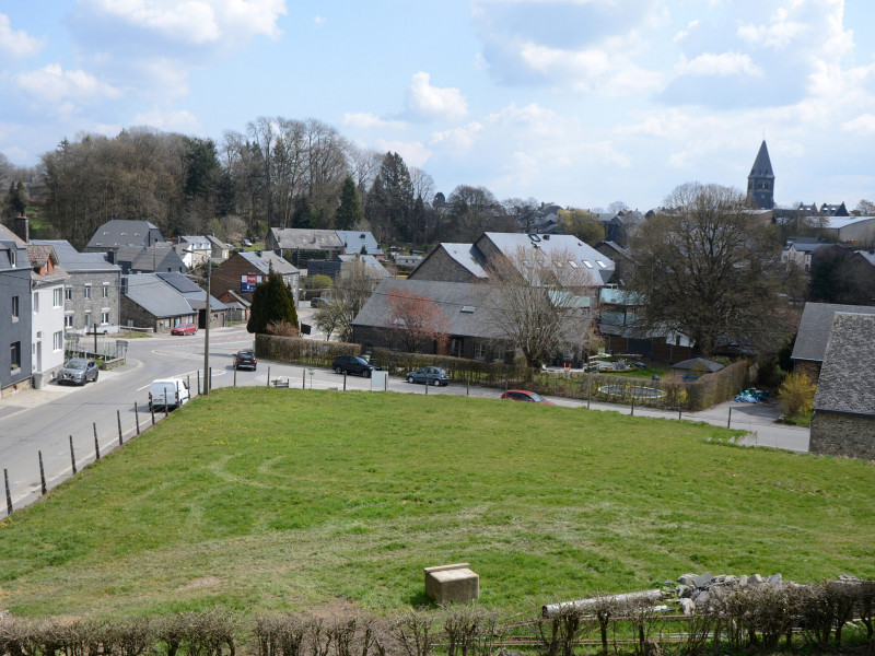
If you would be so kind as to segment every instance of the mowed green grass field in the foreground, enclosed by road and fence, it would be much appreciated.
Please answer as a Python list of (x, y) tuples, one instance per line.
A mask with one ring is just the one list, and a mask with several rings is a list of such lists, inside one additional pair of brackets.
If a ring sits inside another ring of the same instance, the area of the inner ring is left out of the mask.
[(0, 528), (0, 609), (420, 605), (466, 561), (524, 611), (685, 572), (875, 576), (872, 462), (450, 396), (220, 389)]

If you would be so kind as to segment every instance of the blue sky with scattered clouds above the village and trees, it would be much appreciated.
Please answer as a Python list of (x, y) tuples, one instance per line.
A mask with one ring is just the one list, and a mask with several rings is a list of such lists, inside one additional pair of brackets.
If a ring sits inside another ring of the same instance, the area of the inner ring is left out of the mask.
[[(872, 0), (0, 0), (0, 152), (317, 118), (448, 196), (875, 200)], [(868, 37), (866, 35), (870, 35)]]

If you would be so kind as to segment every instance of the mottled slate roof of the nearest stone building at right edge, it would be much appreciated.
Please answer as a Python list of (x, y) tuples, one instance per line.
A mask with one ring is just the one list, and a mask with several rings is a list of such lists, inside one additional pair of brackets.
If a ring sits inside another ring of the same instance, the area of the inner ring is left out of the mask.
[(875, 315), (836, 313), (814, 409), (875, 417)]

